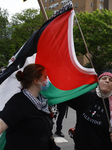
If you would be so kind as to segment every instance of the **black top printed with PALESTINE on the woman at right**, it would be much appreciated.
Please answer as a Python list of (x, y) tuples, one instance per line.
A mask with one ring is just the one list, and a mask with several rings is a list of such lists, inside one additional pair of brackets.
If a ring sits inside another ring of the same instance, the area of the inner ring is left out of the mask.
[[(66, 102), (76, 110), (77, 124), (74, 134), (76, 150), (112, 150), (109, 123), (103, 101), (95, 91)], [(109, 100), (105, 104), (110, 117)]]

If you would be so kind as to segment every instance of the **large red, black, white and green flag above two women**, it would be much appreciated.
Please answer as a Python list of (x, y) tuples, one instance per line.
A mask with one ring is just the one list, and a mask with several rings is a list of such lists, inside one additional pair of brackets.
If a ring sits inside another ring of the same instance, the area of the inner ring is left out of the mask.
[(30, 63), (45, 66), (51, 81), (42, 94), (54, 105), (84, 94), (97, 85), (93, 68), (85, 68), (77, 60), (73, 41), (75, 12), (68, 3), (46, 21), (9, 61), (0, 76), (0, 110), (9, 98), (20, 91), (15, 74)]

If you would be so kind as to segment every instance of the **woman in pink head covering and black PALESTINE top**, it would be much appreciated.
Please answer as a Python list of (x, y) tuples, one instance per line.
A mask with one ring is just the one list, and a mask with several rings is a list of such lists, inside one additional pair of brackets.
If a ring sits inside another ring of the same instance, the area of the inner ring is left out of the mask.
[[(73, 136), (75, 150), (112, 150), (112, 133), (109, 126), (109, 120), (112, 120), (111, 95), (112, 73), (105, 72), (99, 76), (96, 90), (65, 102), (76, 110), (77, 122)], [(112, 127), (112, 121), (110, 123)]]

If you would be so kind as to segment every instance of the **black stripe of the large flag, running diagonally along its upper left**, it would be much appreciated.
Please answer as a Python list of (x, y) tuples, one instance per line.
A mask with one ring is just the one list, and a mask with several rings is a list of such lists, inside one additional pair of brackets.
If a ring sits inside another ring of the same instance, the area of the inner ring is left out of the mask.
[[(70, 6), (70, 5), (69, 5)], [(71, 10), (72, 7), (69, 7), (67, 9), (61, 9), (60, 12), (58, 12), (55, 16), (51, 17), (49, 20), (47, 20), (42, 27), (35, 31), (34, 34), (27, 40), (27, 42), (24, 44), (24, 46), (21, 48), (20, 53), (18, 54), (16, 60), (4, 71), (2, 75), (0, 75), (0, 84), (8, 78), (14, 71), (18, 70), (19, 68), (22, 68), (24, 66), (24, 63), (27, 59), (27, 57), (32, 56), (33, 54), (37, 53), (37, 45), (39, 38), (44, 31), (44, 29), (59, 15), (62, 15), (63, 13)], [(16, 52), (17, 53), (17, 52)]]

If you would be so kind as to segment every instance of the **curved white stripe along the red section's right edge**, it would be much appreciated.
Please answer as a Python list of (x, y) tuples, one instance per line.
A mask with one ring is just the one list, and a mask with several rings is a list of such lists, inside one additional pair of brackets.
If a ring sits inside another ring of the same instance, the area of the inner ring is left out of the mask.
[(85, 73), (85, 74), (95, 75), (96, 72), (94, 68), (85, 68), (77, 60), (77, 57), (75, 54), (74, 40), (73, 40), (74, 15), (75, 15), (75, 12), (74, 10), (72, 10), (71, 15), (69, 17), (69, 21), (68, 21), (68, 48), (69, 48), (70, 59), (74, 67), (80, 72)]

